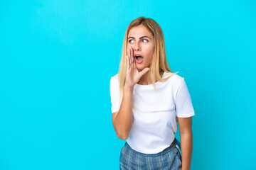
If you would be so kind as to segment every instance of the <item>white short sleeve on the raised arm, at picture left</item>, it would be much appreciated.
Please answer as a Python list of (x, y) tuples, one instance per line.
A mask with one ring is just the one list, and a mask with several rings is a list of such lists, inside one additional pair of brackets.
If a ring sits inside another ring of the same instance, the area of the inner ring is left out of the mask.
[(110, 98), (112, 113), (119, 111), (119, 82), (116, 77), (110, 79)]

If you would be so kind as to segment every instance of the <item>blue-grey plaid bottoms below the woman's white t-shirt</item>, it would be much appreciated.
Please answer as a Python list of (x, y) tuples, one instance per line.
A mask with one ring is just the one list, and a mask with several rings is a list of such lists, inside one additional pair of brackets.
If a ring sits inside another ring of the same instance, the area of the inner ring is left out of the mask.
[(120, 169), (173, 169), (181, 170), (181, 143), (174, 142), (157, 154), (137, 152), (125, 142), (119, 158)]

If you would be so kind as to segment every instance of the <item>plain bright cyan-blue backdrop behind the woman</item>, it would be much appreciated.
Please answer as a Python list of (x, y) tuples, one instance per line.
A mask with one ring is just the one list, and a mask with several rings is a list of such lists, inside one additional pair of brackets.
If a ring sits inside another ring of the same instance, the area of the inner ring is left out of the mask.
[(0, 169), (119, 169), (110, 77), (139, 16), (190, 91), (191, 169), (256, 169), (253, 0), (1, 1)]

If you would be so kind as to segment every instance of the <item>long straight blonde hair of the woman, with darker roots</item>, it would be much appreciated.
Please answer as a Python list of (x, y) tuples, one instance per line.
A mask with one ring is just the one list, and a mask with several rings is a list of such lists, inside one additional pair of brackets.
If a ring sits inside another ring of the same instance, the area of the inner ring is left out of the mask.
[[(156, 21), (154, 21), (151, 18), (145, 18), (145, 17), (139, 17), (129, 23), (129, 26), (127, 27), (127, 30), (124, 34), (124, 42), (122, 45), (122, 56), (121, 61), (119, 64), (118, 69), (118, 75), (119, 75), (119, 106), (122, 102), (123, 97), (123, 89), (126, 79), (126, 69), (127, 69), (127, 60), (126, 56), (128, 55), (127, 52), (127, 39), (128, 39), (128, 33), (129, 30), (131, 30), (134, 26), (145, 26), (151, 34), (154, 36), (154, 54), (152, 62), (149, 66), (149, 84), (152, 84), (154, 86), (154, 91), (156, 90), (156, 81), (164, 82), (167, 81), (171, 76), (174, 74), (177, 74), (178, 72), (174, 73), (171, 71), (169, 64), (167, 62), (166, 58), (166, 48), (164, 45), (164, 33), (161, 30), (161, 27), (159, 26)], [(166, 77), (165, 79), (161, 78), (160, 71), (164, 72), (171, 72), (174, 73), (170, 77)], [(134, 104), (132, 103), (132, 108), (136, 110), (134, 107)]]

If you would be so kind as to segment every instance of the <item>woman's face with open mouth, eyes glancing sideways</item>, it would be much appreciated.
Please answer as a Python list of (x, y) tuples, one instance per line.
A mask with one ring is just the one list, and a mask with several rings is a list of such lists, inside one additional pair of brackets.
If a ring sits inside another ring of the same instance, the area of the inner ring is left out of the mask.
[[(135, 26), (129, 30), (127, 48), (131, 46), (134, 54), (134, 62), (137, 69), (149, 67), (154, 54), (154, 36), (145, 26)], [(142, 57), (135, 57), (140, 55)]]

